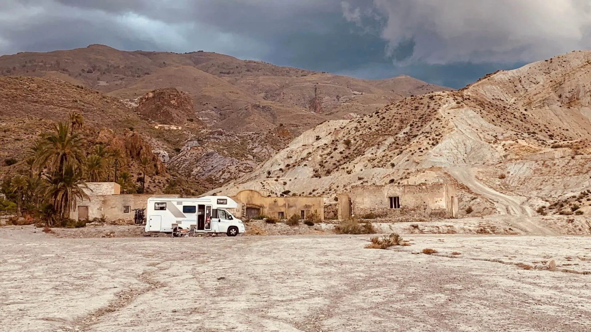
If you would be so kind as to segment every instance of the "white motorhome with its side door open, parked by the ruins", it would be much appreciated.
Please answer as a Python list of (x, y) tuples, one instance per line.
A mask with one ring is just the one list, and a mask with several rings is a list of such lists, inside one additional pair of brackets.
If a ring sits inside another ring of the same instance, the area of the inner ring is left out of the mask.
[[(226, 233), (236, 236), (244, 233), (242, 220), (236, 219), (228, 209), (238, 204), (227, 196), (199, 198), (148, 198), (146, 232), (178, 233), (193, 226), (198, 233)], [(174, 224), (174, 227), (173, 227)]]

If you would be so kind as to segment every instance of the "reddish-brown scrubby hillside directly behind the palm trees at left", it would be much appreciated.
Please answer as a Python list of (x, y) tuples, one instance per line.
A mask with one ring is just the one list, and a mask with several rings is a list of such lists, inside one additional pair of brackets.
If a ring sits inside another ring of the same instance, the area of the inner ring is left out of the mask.
[[(116, 149), (121, 153), (119, 172), (127, 171), (134, 179), (142, 173), (139, 157), (147, 157), (147, 188), (159, 192), (167, 187), (174, 174), (148, 143), (153, 140), (148, 134), (156, 129), (133, 106), (87, 87), (35, 77), (0, 77), (0, 177), (27, 169), (24, 159), (34, 141), (52, 131), (56, 122), (69, 121), (70, 112), (83, 115), (86, 151), (96, 144)], [(198, 188), (200, 183), (186, 186)]]

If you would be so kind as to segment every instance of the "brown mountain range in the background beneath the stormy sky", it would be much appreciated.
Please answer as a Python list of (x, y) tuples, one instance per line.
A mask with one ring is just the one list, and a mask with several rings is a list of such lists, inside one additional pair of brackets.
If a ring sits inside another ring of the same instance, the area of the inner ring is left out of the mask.
[[(104, 45), (1, 56), (0, 75), (7, 76), (0, 107), (26, 110), (2, 113), (12, 116), (6, 125), (56, 121), (82, 110), (90, 123), (141, 133), (169, 170), (212, 188), (248, 174), (319, 123), (450, 90), (407, 76), (359, 80), (203, 51), (128, 52)], [(22, 76), (37, 80), (8, 78)], [(23, 142), (36, 131), (20, 134)]]

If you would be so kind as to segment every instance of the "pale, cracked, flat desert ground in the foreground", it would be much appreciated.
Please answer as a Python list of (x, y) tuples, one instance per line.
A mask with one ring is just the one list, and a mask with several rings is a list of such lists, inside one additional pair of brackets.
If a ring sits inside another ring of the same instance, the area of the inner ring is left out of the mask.
[(0, 227), (0, 330), (591, 330), (586, 236), (73, 237)]

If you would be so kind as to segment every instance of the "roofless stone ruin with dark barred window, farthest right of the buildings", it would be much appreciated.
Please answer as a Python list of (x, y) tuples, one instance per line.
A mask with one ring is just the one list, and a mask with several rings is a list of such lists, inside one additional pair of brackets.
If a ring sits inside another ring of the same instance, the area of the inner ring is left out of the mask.
[(339, 194), (338, 219), (350, 216), (457, 217), (457, 194), (445, 183), (418, 185), (360, 185)]

